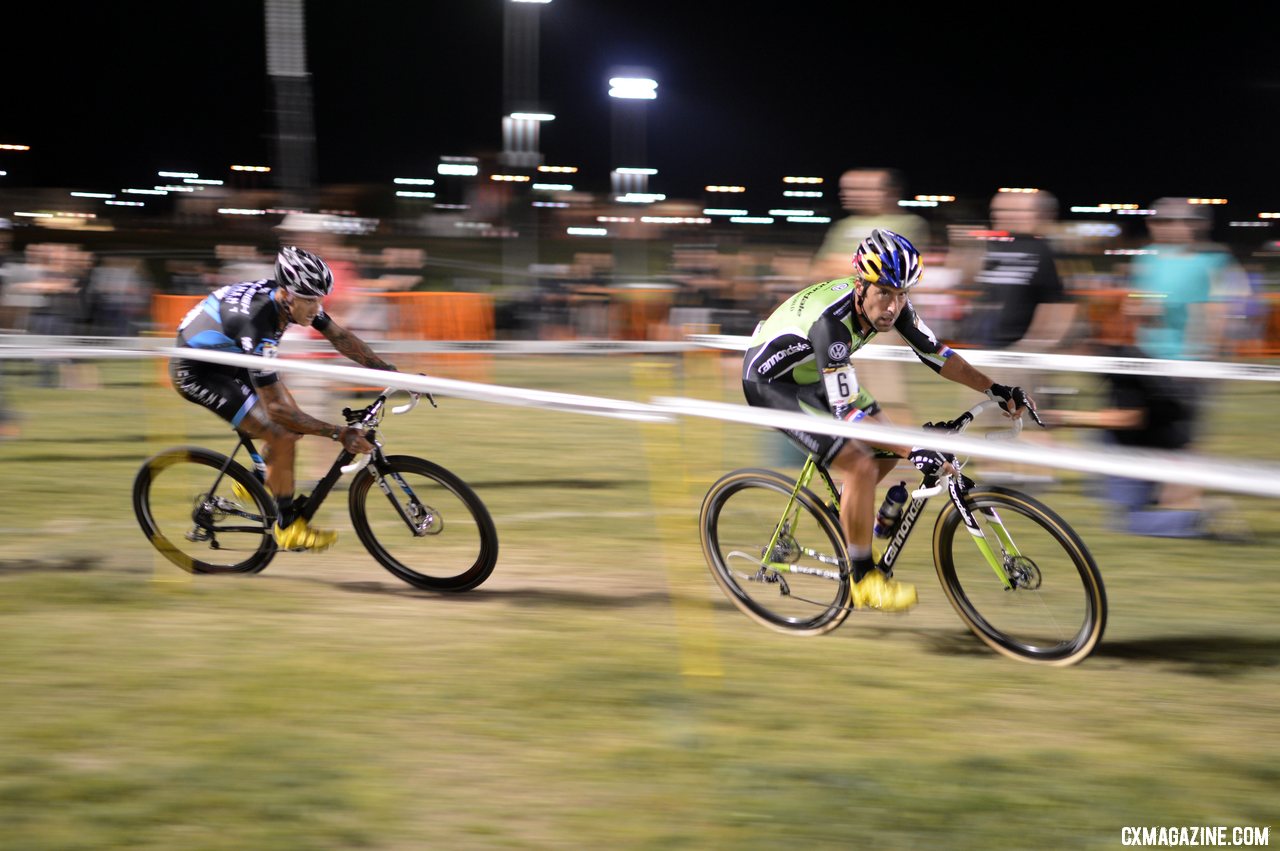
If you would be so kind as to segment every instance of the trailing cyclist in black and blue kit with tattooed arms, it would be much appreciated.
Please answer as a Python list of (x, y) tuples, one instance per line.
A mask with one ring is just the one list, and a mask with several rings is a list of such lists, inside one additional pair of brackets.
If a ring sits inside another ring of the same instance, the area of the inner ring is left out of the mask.
[[(212, 292), (178, 325), (178, 347), (256, 354), (273, 358), (291, 324), (310, 325), (335, 349), (374, 370), (396, 367), (324, 312), (333, 289), (333, 271), (314, 253), (285, 246), (275, 258), (275, 278), (230, 284)], [(274, 529), (283, 549), (323, 550), (338, 540), (332, 530), (315, 529), (297, 516), (293, 495), (294, 444), (305, 434), (342, 443), (348, 452), (372, 452), (360, 429), (330, 425), (298, 408), (293, 394), (269, 365), (247, 370), (175, 358), (173, 385), (183, 398), (201, 404), (264, 444), (266, 486), (280, 509)]]

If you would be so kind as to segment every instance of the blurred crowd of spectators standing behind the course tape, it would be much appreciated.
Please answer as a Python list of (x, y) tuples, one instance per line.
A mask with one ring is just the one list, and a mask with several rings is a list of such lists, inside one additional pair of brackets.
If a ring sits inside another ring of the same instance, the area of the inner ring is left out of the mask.
[[(850, 169), (838, 193), (842, 215), (806, 229), (730, 229), (691, 215), (700, 212), (694, 205), (655, 205), (650, 221), (659, 224), (644, 227), (634, 211), (614, 216), (590, 205), (562, 205), (531, 224), (527, 209), (512, 215), (500, 203), (485, 207), (490, 223), (442, 211), (410, 227), (294, 211), (223, 229), (174, 218), (168, 228), (90, 234), (0, 219), (0, 333), (169, 337), (193, 299), (271, 276), (276, 248), (298, 244), (335, 271), (326, 310), (370, 340), (745, 335), (797, 289), (850, 274), (858, 242), (882, 227), (924, 255), (913, 303), (954, 347), (1172, 360), (1280, 356), (1275, 242), (1216, 241), (1224, 230), (1213, 206), (1158, 198), (1125, 228), (1080, 227), (1047, 191), (992, 192), (964, 212), (915, 211), (900, 206), (904, 175), (890, 168)], [(566, 235), (573, 224), (600, 220), (612, 221), (608, 241)], [(444, 303), (431, 298), (448, 293), (474, 294), (467, 310), (479, 305), (485, 321), (422, 319), (440, 314)], [(406, 301), (408, 294), (420, 303)], [(415, 316), (416, 325), (408, 321)], [(305, 338), (306, 329), (294, 334)], [(896, 334), (877, 342), (901, 343)], [(918, 422), (906, 369), (869, 358), (859, 376), (895, 421)], [(42, 362), (35, 374), (44, 385), (93, 380), (73, 362)], [(1048, 379), (1028, 375), (1025, 383), (1036, 389)], [(1112, 444), (1196, 445), (1211, 389), (1107, 379), (1105, 410), (1059, 410), (1048, 397), (1042, 406), (1059, 425), (1097, 429)], [(0, 430), (13, 431), (3, 402)], [(1206, 508), (1194, 489), (1139, 484), (1112, 482), (1106, 491), (1128, 529), (1203, 534)]]

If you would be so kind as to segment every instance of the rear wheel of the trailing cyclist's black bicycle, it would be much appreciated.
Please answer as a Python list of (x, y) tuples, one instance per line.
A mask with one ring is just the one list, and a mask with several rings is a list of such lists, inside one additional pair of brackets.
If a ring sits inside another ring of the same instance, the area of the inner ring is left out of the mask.
[(133, 513), (152, 546), (189, 573), (259, 573), (276, 553), (275, 500), (257, 476), (210, 449), (177, 447), (147, 458), (133, 479)]

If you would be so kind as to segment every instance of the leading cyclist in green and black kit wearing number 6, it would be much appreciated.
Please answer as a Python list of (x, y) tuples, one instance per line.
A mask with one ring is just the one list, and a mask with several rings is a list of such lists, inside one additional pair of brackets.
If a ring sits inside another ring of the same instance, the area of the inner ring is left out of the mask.
[[(882, 228), (872, 230), (858, 246), (851, 276), (801, 289), (756, 326), (742, 363), (748, 403), (847, 421), (869, 417), (888, 425), (876, 399), (858, 386), (850, 356), (876, 334), (895, 329), (942, 378), (998, 399), (1006, 416), (1029, 410), (1039, 422), (1021, 388), (993, 383), (920, 321), (908, 292), (919, 283), (922, 271), (920, 255), (910, 241)], [(869, 445), (796, 430), (785, 434), (842, 480), (840, 522), (852, 566), (854, 604), (887, 612), (914, 605), (915, 587), (886, 577), (872, 561), (876, 485), (899, 458), (910, 458), (927, 473), (955, 472), (954, 458), (923, 447)]]

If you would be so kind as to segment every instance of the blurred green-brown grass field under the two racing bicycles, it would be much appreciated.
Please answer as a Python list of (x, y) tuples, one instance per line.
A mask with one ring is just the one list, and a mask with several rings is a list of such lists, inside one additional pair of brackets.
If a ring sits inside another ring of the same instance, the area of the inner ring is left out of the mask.
[[(772, 434), (440, 399), (385, 435), (489, 504), (480, 589), (385, 573), (344, 494), (320, 516), (335, 550), (191, 577), (151, 552), (129, 489), (147, 454), (228, 433), (156, 363), (99, 366), (92, 392), (20, 365), (5, 385), (23, 415), (0, 443), (6, 851), (1107, 848), (1125, 825), (1280, 822), (1275, 503), (1236, 498), (1249, 544), (1137, 539), (1062, 475), (1041, 498), (1093, 550), (1111, 618), (1084, 664), (1042, 669), (966, 632), (923, 535), (897, 568), (909, 614), (796, 639), (733, 609), (698, 504), (732, 467), (786, 463)], [(739, 402), (717, 357), (481, 369), (457, 376)], [(923, 416), (970, 402), (909, 375)], [(1204, 450), (1280, 461), (1275, 389), (1217, 393)], [(305, 468), (332, 447), (311, 443)]]

